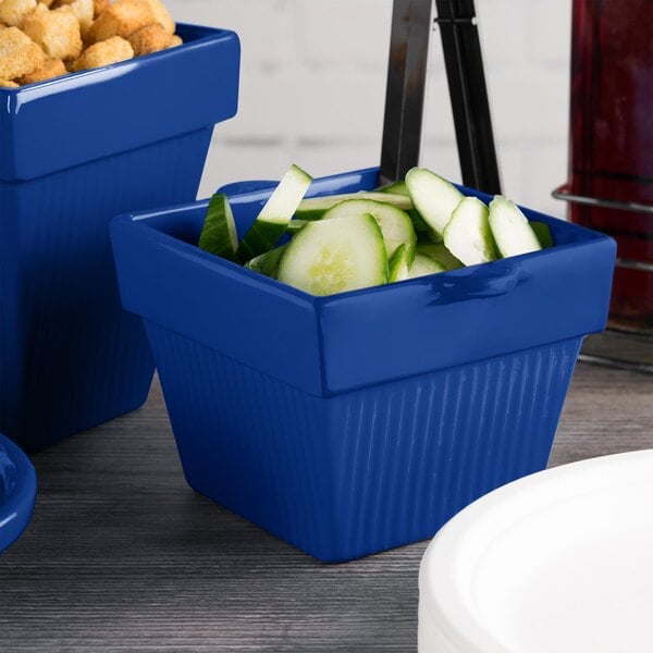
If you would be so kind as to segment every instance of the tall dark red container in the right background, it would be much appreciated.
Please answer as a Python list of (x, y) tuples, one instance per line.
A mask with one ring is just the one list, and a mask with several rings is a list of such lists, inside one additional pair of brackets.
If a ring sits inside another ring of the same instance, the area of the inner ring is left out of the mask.
[(653, 331), (653, 2), (574, 0), (574, 222), (617, 241), (609, 326)]

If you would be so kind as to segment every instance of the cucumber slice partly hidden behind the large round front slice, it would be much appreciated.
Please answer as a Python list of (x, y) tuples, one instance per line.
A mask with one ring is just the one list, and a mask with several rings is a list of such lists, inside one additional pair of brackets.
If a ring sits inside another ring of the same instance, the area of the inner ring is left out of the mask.
[(412, 264), (415, 259), (415, 245), (417, 238), (412, 229), (412, 222), (406, 211), (396, 207), (374, 201), (372, 199), (347, 199), (329, 209), (322, 220), (332, 220), (333, 218), (343, 218), (347, 215), (372, 215), (381, 227), (387, 258), (390, 259), (396, 248), (404, 244), (406, 246), (406, 256), (408, 266)]

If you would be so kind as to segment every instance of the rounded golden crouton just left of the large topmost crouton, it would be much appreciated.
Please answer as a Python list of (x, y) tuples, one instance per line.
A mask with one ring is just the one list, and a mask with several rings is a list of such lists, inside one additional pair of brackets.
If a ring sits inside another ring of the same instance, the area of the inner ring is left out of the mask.
[(70, 7), (54, 11), (37, 8), (25, 19), (23, 32), (54, 59), (77, 59), (82, 52), (79, 21)]

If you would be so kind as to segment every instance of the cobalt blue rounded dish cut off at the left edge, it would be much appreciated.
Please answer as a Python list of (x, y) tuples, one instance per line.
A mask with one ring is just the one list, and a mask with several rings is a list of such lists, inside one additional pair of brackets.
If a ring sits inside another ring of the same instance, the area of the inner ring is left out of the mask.
[(36, 472), (27, 456), (0, 434), (0, 555), (27, 528), (36, 502)]

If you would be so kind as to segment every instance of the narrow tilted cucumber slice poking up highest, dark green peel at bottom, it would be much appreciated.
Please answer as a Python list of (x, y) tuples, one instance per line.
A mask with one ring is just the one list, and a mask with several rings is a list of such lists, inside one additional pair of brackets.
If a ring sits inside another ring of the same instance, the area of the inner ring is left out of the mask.
[(236, 258), (242, 263), (276, 245), (311, 182), (304, 170), (291, 165), (241, 242)]

